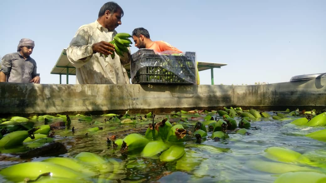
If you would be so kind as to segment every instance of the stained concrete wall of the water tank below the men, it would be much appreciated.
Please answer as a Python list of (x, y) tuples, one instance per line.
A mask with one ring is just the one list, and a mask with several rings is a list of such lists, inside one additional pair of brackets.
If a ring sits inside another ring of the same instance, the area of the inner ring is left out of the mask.
[(254, 106), (265, 110), (324, 109), (325, 84), (326, 78), (247, 86), (0, 83), (0, 114), (103, 113), (127, 109), (167, 112), (169, 109), (223, 106)]

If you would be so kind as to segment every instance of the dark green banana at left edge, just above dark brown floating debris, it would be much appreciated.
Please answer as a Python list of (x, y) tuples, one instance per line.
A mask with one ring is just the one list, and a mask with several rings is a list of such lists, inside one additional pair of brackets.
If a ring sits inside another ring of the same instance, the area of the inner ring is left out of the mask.
[(22, 144), (22, 142), (28, 137), (27, 131), (15, 131), (10, 134), (6, 134), (0, 139), (0, 147), (8, 148)]

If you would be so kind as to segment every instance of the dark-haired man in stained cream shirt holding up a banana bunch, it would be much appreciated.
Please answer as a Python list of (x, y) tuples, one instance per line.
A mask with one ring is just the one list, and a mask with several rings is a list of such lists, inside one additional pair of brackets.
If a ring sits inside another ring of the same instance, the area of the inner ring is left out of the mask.
[(76, 67), (76, 84), (129, 84), (129, 77), (122, 64), (130, 62), (130, 53), (119, 57), (115, 54), (100, 57), (100, 53), (110, 55), (114, 46), (109, 42), (117, 34), (114, 30), (121, 25), (124, 15), (122, 8), (115, 2), (105, 3), (98, 19), (82, 25), (67, 48), (69, 61)]

